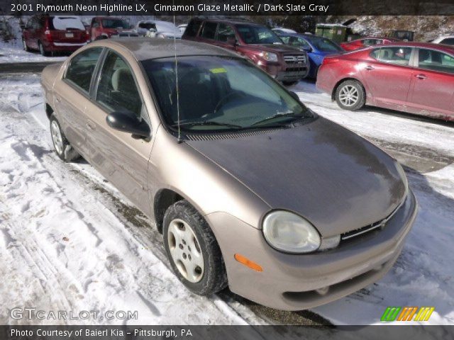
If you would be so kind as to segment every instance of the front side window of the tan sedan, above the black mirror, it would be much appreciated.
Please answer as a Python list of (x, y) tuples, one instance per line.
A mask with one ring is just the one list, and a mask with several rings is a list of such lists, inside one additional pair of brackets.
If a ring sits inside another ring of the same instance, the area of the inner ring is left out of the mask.
[(109, 51), (101, 69), (96, 101), (108, 111), (131, 111), (140, 117), (142, 98), (133, 72), (115, 52)]

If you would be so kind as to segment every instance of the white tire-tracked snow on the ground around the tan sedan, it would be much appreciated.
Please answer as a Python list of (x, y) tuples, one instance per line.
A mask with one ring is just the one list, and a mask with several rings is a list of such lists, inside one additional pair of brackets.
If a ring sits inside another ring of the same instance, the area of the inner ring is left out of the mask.
[[(365, 137), (425, 147), (445, 163), (454, 157), (451, 125), (376, 108), (341, 111), (309, 82), (292, 90)], [(139, 324), (264, 323), (238, 302), (185, 290), (146, 217), (89, 164), (60, 162), (37, 76), (2, 79), (0, 93), (1, 306), (138, 310), (139, 320), (128, 323)], [(335, 324), (378, 324), (387, 306), (434, 306), (429, 323), (454, 323), (454, 165), (408, 175), (420, 212), (396, 265), (379, 282), (313, 312)], [(0, 310), (0, 323), (13, 322)]]

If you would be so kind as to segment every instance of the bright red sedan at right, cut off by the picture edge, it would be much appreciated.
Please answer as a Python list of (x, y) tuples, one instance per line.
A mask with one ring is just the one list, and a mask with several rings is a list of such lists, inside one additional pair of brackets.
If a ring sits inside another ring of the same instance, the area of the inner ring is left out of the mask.
[(325, 57), (316, 86), (345, 110), (369, 104), (454, 120), (454, 47), (394, 42)]

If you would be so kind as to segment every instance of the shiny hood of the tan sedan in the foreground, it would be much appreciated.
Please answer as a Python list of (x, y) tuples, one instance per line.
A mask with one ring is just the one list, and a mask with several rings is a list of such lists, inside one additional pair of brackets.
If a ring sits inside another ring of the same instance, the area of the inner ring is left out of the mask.
[(397, 162), (324, 118), (306, 125), (188, 144), (264, 200), (297, 212), (323, 237), (365, 227), (397, 208)]

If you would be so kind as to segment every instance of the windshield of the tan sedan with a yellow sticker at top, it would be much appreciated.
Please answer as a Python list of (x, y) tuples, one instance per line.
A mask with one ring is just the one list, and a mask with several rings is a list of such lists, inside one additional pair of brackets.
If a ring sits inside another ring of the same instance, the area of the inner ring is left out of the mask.
[(142, 62), (165, 121), (176, 128), (243, 130), (289, 126), (313, 115), (276, 81), (245, 60), (178, 57)]

